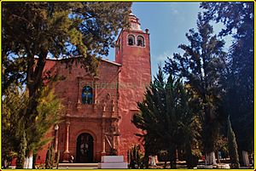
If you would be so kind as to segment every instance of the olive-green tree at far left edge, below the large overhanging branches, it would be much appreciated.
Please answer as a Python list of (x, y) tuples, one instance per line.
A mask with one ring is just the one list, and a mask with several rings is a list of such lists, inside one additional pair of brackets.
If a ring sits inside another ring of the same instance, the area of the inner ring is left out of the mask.
[[(20, 154), (17, 168), (22, 168), (26, 157), (26, 132), (24, 130), (24, 113), (28, 104), (27, 96), (19, 88), (6, 89), (2, 97), (2, 162), (11, 162)], [(3, 164), (3, 163), (2, 163)]]

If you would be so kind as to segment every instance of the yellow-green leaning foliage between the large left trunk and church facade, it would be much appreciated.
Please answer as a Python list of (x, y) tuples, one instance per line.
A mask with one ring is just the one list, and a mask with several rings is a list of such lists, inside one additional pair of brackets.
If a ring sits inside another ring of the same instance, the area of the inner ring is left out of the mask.
[(45, 134), (49, 131), (49, 128), (61, 122), (61, 117), (65, 112), (64, 106), (61, 105), (61, 100), (55, 96), (49, 86), (42, 89), (38, 99), (37, 112), (38, 116), (35, 118), (35, 121), (29, 128), (26, 128), (26, 157), (33, 154), (33, 156), (37, 156), (38, 150), (42, 150), (42, 146), (51, 140), (45, 139)]

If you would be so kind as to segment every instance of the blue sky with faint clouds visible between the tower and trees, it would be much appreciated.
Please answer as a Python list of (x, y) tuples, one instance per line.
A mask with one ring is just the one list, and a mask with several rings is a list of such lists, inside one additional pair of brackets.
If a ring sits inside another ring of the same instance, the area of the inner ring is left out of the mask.
[[(189, 43), (185, 33), (190, 28), (196, 29), (196, 20), (200, 3), (132, 3), (132, 13), (137, 15), (143, 30), (148, 28), (150, 33), (151, 70), (154, 76), (158, 64), (173, 53), (182, 53), (177, 46)], [(216, 32), (220, 25), (215, 26)], [(108, 55), (114, 60), (113, 49)]]

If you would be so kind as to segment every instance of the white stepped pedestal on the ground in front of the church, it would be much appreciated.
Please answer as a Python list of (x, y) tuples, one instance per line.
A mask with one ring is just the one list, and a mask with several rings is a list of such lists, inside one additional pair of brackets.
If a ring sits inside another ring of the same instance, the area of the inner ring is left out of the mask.
[(124, 156), (104, 156), (99, 168), (128, 168), (128, 163), (124, 162)]

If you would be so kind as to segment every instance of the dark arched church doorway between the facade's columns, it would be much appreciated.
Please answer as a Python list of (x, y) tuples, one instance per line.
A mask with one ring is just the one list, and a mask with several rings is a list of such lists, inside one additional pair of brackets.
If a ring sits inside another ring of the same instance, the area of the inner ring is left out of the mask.
[(88, 133), (80, 134), (77, 139), (76, 161), (93, 162), (93, 137)]

